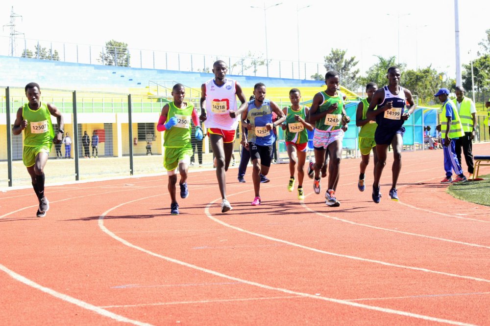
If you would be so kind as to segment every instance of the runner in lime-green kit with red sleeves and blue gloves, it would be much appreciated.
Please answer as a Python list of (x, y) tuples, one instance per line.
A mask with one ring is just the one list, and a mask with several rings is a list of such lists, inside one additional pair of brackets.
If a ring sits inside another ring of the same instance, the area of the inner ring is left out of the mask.
[(202, 130), (199, 127), (199, 117), (192, 103), (184, 102), (185, 87), (175, 84), (172, 88), (173, 102), (166, 104), (158, 120), (157, 130), (163, 134), (165, 153), (163, 165), (169, 175), (169, 193), (172, 203), (170, 214), (179, 214), (179, 204), (175, 197), (177, 183), (176, 169), (180, 174), (180, 197), (187, 198), (187, 171), (193, 154), (191, 145), (191, 119), (196, 125), (196, 139), (202, 140)]

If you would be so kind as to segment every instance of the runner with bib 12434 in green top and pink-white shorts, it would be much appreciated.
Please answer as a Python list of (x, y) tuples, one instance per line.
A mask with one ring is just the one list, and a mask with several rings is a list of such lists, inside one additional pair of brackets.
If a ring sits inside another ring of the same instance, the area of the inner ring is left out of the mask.
[(340, 175), (340, 161), (342, 158), (342, 140), (344, 131), (342, 126), (349, 123), (350, 118), (345, 114), (343, 94), (339, 89), (339, 73), (330, 70), (325, 74), (327, 89), (321, 91), (313, 98), (310, 109), (309, 122), (315, 123), (313, 144), (315, 146), (315, 163), (308, 167), (308, 175), (315, 176), (313, 189), (320, 193), (320, 170), (325, 164), (325, 150), (330, 155), (328, 164), (328, 189), (325, 193), (327, 206), (338, 207), (340, 202), (335, 196)]

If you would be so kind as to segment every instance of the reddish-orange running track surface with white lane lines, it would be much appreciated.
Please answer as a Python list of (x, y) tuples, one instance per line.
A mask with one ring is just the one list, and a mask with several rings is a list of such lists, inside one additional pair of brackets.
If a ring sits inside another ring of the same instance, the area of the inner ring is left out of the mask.
[(361, 193), (343, 160), (338, 208), (308, 178), (304, 202), (287, 192), (286, 164), (257, 207), (230, 169), (225, 214), (192, 168), (179, 216), (167, 176), (49, 186), (43, 218), (32, 189), (3, 193), (0, 325), (490, 325), (490, 208), (445, 193), (442, 151), (402, 162), (401, 201), (389, 153), (375, 204), (372, 161)]

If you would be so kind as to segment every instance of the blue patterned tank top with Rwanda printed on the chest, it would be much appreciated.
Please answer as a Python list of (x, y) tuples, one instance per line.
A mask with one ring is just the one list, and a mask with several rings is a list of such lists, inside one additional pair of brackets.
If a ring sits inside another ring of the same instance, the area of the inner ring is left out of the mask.
[(260, 146), (270, 146), (274, 143), (274, 131), (265, 130), (266, 124), (272, 123), (272, 108), (269, 99), (264, 99), (259, 108), (255, 106), (255, 100), (249, 101), (247, 119), (252, 125), (252, 129), (248, 132), (248, 142)]

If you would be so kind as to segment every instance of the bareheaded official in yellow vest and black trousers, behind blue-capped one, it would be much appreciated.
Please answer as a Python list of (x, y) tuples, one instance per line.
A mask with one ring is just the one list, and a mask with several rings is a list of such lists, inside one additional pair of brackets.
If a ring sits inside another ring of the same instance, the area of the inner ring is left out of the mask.
[(453, 100), (453, 103), (457, 108), (463, 131), (465, 132), (463, 137), (456, 140), (456, 156), (460, 165), (463, 166), (461, 162), (461, 148), (463, 147), (469, 178), (471, 178), (474, 170), (472, 139), (475, 137), (476, 108), (473, 101), (465, 96), (465, 88), (457, 86), (455, 93), (456, 98)]

